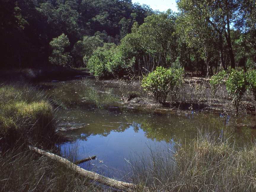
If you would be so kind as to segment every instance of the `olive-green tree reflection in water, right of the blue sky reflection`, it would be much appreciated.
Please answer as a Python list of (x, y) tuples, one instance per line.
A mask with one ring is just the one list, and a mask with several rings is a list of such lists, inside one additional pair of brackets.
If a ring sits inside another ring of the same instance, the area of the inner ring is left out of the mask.
[[(145, 136), (156, 141), (165, 141), (167, 143), (176, 141), (190, 141), (197, 137), (198, 132), (208, 132), (218, 137), (224, 131), (226, 135), (234, 132), (234, 126), (226, 126), (223, 119), (210, 114), (180, 116), (155, 116), (154, 118), (142, 119), (140, 127), (145, 132)], [(237, 130), (236, 130), (237, 131)], [(236, 138), (248, 137), (252, 129), (245, 129), (236, 134)], [(248, 140), (248, 138), (246, 139)]]

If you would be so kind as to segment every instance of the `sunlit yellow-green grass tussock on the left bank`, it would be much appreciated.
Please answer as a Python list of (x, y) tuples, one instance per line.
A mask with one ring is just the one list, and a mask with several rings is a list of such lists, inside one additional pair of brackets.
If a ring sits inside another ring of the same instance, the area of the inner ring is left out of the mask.
[(52, 105), (31, 86), (0, 86), (0, 138), (5, 145), (17, 140), (40, 142), (55, 134)]

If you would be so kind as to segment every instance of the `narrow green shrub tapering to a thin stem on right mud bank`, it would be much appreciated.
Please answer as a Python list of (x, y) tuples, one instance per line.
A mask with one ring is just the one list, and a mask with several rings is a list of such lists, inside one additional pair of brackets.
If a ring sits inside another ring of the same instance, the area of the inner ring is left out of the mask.
[(232, 103), (238, 112), (238, 106), (246, 90), (246, 74), (244, 71), (231, 70), (226, 82), (226, 88), (232, 98)]

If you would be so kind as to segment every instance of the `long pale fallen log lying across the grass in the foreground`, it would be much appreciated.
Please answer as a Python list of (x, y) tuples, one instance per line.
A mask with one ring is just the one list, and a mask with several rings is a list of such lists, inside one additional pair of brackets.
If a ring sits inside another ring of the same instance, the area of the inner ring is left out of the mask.
[(131, 191), (132, 189), (135, 188), (135, 185), (133, 183), (126, 183), (126, 182), (123, 182), (123, 181), (114, 180), (114, 179), (111, 179), (109, 177), (99, 175), (95, 172), (87, 171), (87, 170), (73, 164), (71, 161), (68, 161), (67, 159), (65, 159), (61, 156), (55, 155), (53, 153), (49, 153), (47, 151), (44, 151), (44, 150), (41, 150), (39, 148), (32, 147), (32, 146), (29, 146), (29, 149), (32, 150), (32, 151), (35, 151), (35, 152), (37, 152), (41, 155), (45, 155), (45, 156), (49, 157), (50, 159), (58, 161), (61, 164), (68, 167), (69, 169), (72, 169), (76, 173), (79, 173), (80, 175), (82, 175), (84, 177), (88, 177), (89, 179), (97, 181), (97, 182), (102, 183), (104, 185), (107, 185), (107, 186), (110, 186), (110, 187), (113, 187), (113, 188), (116, 188), (116, 189), (120, 189), (120, 190), (125, 190), (125, 191)]

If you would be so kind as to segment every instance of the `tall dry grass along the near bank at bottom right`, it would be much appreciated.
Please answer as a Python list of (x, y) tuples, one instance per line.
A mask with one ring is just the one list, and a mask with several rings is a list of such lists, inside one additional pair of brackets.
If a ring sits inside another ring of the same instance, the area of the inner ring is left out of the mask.
[(151, 152), (133, 163), (137, 191), (255, 191), (256, 145), (201, 136), (176, 152)]

